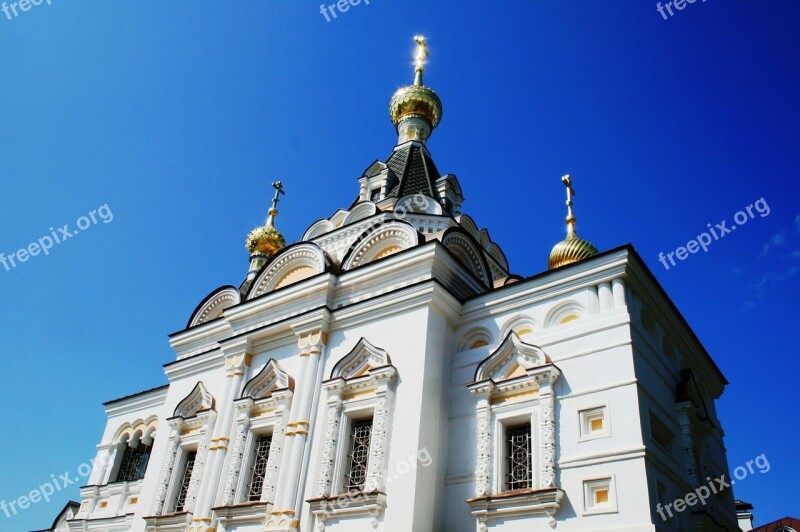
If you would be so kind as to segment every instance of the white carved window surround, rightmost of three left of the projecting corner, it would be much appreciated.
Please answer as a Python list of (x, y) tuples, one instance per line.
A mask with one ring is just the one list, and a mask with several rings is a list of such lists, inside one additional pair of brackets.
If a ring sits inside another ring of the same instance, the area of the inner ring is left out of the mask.
[[(394, 410), (397, 368), (383, 349), (361, 338), (323, 382), (327, 396), (322, 456), (316, 497), (307, 502), (325, 529), (329, 518), (371, 517), (373, 527), (386, 507), (389, 430)], [(349, 431), (353, 420), (372, 417), (367, 479), (362, 492), (344, 491)]]

